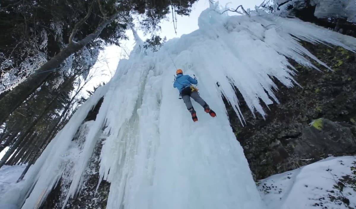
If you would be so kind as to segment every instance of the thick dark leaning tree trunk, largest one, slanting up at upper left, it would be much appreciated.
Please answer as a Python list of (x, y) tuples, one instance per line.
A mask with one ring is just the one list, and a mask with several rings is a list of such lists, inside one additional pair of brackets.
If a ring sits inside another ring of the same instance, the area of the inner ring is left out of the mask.
[(109, 25), (115, 18), (119, 15), (112, 15), (107, 20), (103, 21), (94, 31), (94, 33), (89, 34), (87, 37), (83, 38), (80, 42), (71, 42), (67, 47), (63, 48), (58, 54), (48, 60), (43, 64), (34, 74), (28, 77), (21, 84), (17, 85), (13, 90), (7, 93), (0, 100), (0, 125), (3, 124), (9, 115), (19, 107), (23, 101), (26, 100), (41, 84), (46, 80), (46, 78), (56, 70), (58, 66), (67, 59), (71, 54), (78, 52), (89, 42), (93, 41), (99, 36), (101, 31)]

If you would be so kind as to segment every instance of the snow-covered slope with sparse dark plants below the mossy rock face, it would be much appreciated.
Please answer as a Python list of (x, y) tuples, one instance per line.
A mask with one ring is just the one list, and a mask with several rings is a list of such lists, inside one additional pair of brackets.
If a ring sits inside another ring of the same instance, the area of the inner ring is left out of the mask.
[(258, 182), (269, 209), (356, 207), (356, 156), (328, 157)]

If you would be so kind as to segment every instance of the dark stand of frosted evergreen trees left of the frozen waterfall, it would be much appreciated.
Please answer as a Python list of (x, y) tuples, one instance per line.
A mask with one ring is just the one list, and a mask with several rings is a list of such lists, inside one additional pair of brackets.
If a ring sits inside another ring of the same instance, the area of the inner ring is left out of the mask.
[[(0, 167), (36, 160), (85, 102), (80, 92), (99, 51), (120, 46), (133, 17), (141, 20), (137, 27), (153, 34), (170, 11), (188, 15), (195, 1), (2, 0), (0, 151), (9, 151)], [(147, 46), (161, 41), (153, 36)]]

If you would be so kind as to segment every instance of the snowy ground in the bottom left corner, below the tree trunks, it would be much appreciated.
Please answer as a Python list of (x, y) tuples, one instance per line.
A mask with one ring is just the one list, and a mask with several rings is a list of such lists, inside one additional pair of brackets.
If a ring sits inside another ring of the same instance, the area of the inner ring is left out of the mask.
[[(17, 209), (16, 202), (9, 201), (11, 196), (16, 195), (15, 191), (20, 191), (22, 184), (16, 183), (26, 165), (2, 166), (0, 168), (0, 209)], [(10, 191), (11, 193), (8, 193)]]

